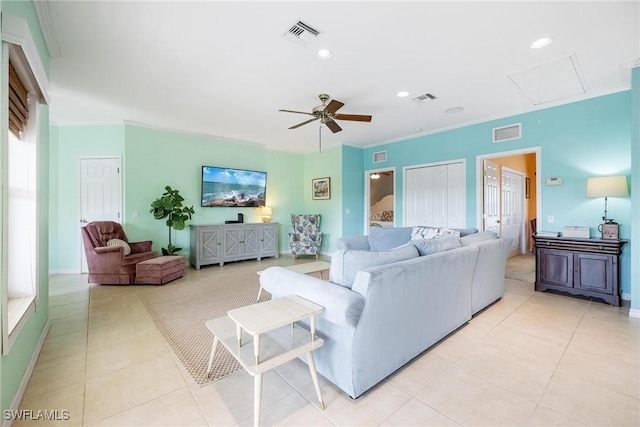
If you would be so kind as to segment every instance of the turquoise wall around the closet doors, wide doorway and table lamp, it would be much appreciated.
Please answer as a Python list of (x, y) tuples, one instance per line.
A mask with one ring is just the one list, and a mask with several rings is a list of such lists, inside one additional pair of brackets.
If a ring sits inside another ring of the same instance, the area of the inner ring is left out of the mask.
[[(401, 225), (402, 167), (451, 159), (467, 162), (467, 226), (476, 227), (476, 156), (494, 152), (541, 147), (543, 182), (542, 228), (562, 231), (565, 225), (591, 227), (592, 236), (602, 221), (604, 200), (587, 199), (587, 178), (598, 175), (631, 174), (631, 91), (493, 120), (460, 129), (421, 136), (364, 151), (364, 169), (373, 169), (372, 153), (387, 151), (387, 162), (375, 168), (395, 166), (397, 177), (397, 221)], [(492, 128), (522, 123), (522, 138), (494, 144)], [(561, 186), (546, 186), (547, 177), (564, 178)], [(621, 238), (631, 230), (631, 199), (610, 198), (609, 214), (621, 224)], [(554, 224), (546, 218), (555, 216)], [(627, 245), (628, 246), (628, 245)], [(630, 248), (621, 258), (623, 293), (629, 293)]]

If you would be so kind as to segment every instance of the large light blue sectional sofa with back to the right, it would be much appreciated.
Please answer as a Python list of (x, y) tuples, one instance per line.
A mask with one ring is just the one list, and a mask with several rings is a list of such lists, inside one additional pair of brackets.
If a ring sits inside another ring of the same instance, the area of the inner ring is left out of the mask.
[(504, 293), (510, 239), (481, 232), (409, 240), (409, 232), (399, 242), (406, 230), (387, 230), (386, 239), (340, 239), (330, 281), (283, 267), (260, 276), (274, 298), (295, 294), (325, 308), (316, 321), (324, 339), (316, 368), (353, 398)]

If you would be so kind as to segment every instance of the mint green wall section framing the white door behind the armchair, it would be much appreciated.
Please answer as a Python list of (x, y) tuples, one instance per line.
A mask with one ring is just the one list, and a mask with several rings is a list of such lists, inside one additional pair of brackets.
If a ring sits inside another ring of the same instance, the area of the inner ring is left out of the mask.
[(51, 269), (60, 273), (80, 272), (80, 159), (124, 154), (124, 126), (52, 126), (57, 175), (50, 185), (55, 194), (52, 207)]

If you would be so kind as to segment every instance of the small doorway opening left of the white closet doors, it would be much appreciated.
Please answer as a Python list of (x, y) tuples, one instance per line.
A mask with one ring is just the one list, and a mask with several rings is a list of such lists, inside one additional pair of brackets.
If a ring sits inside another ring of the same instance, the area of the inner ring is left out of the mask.
[(395, 168), (365, 172), (365, 234), (370, 227), (395, 226), (395, 188)]

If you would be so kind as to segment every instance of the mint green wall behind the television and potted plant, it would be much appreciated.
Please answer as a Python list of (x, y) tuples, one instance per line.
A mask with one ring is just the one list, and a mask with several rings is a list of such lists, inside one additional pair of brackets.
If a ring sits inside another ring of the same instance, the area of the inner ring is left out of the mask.
[[(200, 206), (203, 165), (267, 172), (267, 205), (273, 208), (272, 222), (279, 222), (280, 250), (288, 250), (289, 214), (303, 209), (302, 155), (266, 149), (262, 145), (224, 141), (138, 126), (125, 127), (125, 222), (128, 237), (152, 239), (154, 249), (168, 243), (168, 227), (153, 219), (151, 203), (166, 185), (180, 190), (195, 214), (189, 224), (220, 224), (244, 215), (245, 222), (261, 222), (260, 209), (203, 208)], [(138, 218), (133, 217), (134, 211)], [(174, 231), (172, 243), (189, 256), (189, 229)]]

